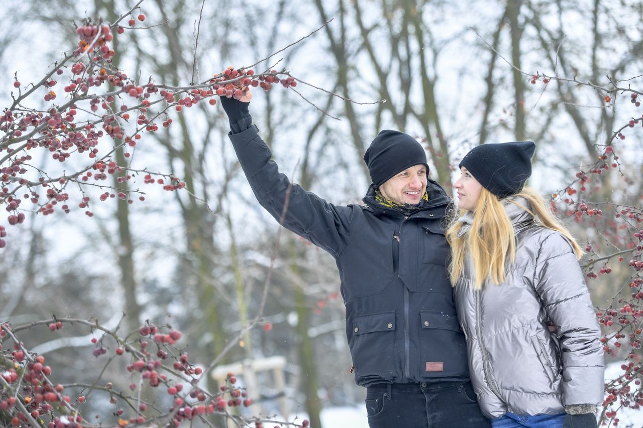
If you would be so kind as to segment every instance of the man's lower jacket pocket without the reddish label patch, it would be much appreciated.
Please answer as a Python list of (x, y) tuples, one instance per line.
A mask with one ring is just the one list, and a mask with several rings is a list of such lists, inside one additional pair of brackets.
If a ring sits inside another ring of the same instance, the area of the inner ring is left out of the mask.
[(350, 355), (358, 377), (393, 379), (395, 312), (353, 318)]

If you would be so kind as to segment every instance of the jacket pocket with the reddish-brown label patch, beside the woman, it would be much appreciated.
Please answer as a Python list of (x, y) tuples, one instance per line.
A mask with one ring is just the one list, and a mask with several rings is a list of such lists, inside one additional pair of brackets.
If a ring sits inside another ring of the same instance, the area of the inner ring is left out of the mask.
[(467, 372), (466, 343), (456, 314), (420, 311), (420, 327), (421, 378)]

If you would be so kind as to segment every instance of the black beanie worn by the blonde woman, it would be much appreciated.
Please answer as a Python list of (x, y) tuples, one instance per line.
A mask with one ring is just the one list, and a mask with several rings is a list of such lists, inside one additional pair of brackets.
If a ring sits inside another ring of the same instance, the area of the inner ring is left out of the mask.
[(482, 144), (460, 161), (482, 187), (501, 198), (520, 192), (531, 175), (532, 141)]

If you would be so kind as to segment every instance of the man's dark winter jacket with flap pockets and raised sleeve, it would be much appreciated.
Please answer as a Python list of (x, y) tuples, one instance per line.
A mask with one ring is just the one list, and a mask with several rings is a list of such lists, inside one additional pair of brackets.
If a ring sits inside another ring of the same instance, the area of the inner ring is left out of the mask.
[[(259, 203), (279, 220), (291, 183), (256, 126), (230, 134)], [(284, 227), (335, 258), (346, 336), (362, 386), (468, 380), (466, 344), (446, 272), (449, 197), (429, 180), (428, 204), (405, 216), (375, 201), (336, 206), (292, 184)]]

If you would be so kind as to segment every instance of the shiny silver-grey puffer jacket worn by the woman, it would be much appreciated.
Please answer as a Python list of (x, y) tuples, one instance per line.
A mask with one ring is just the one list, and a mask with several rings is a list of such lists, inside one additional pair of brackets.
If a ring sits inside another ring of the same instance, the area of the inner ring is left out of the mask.
[[(505, 202), (505, 209), (518, 240), (505, 281), (487, 280), (475, 290), (469, 259), (454, 290), (480, 409), (498, 418), (508, 411), (538, 415), (562, 413), (570, 404), (598, 406), (601, 332), (573, 247), (515, 204)], [(459, 221), (464, 234), (473, 218)], [(550, 322), (556, 333), (549, 332)]]

